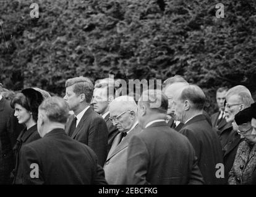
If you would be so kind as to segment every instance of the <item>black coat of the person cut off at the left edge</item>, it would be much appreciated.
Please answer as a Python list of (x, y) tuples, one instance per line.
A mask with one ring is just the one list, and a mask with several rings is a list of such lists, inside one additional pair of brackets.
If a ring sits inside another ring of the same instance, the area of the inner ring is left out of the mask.
[(0, 185), (11, 184), (10, 174), (15, 166), (12, 148), (23, 126), (14, 116), (10, 102), (2, 97), (0, 100)]

